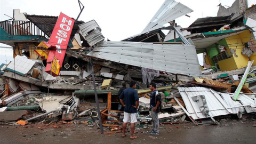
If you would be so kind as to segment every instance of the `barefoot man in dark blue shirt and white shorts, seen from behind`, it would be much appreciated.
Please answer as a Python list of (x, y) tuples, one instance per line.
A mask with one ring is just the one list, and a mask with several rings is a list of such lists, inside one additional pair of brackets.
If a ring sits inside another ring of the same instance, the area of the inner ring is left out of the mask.
[(120, 95), (120, 102), (124, 106), (124, 119), (123, 119), (123, 133), (122, 137), (126, 136), (125, 130), (127, 123), (131, 123), (131, 136), (130, 139), (138, 138), (136, 135), (133, 135), (135, 130), (135, 123), (137, 122), (137, 109), (139, 107), (139, 97), (138, 92), (135, 91), (136, 82), (131, 81), (129, 89), (125, 89)]

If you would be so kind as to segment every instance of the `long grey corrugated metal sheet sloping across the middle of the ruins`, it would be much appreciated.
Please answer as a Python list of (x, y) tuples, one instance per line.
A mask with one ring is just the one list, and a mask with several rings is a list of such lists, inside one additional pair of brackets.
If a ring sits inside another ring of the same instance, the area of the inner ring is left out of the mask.
[(89, 56), (188, 76), (202, 76), (194, 45), (100, 42)]

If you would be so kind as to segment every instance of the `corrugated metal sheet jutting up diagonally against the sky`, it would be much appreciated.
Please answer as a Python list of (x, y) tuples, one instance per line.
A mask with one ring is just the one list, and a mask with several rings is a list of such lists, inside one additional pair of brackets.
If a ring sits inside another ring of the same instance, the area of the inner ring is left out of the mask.
[(154, 17), (150, 20), (146, 28), (141, 32), (141, 34), (147, 33), (158, 28), (164, 27), (165, 23), (175, 20), (182, 15), (193, 12), (189, 7), (175, 2), (173, 0), (166, 0), (160, 9), (156, 12)]

